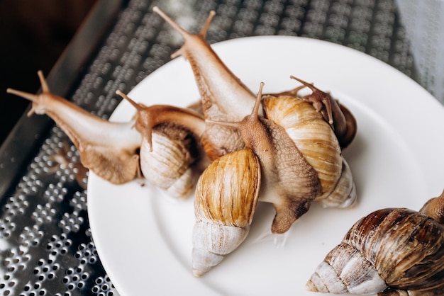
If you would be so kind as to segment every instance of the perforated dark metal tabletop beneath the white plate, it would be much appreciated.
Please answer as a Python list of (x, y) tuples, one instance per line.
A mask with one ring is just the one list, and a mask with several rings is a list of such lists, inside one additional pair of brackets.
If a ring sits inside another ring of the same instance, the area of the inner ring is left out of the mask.
[[(103, 118), (170, 60), (182, 40), (152, 13), (158, 5), (192, 32), (209, 11), (209, 42), (250, 35), (298, 35), (367, 52), (414, 76), (409, 40), (392, 0), (129, 1), (68, 97)], [(37, 79), (37, 77), (36, 77)], [(34, 115), (36, 116), (36, 115)], [(59, 127), (37, 150), (0, 210), (1, 295), (118, 295), (87, 217), (87, 171)], [(131, 271), (128, 271), (131, 273)]]

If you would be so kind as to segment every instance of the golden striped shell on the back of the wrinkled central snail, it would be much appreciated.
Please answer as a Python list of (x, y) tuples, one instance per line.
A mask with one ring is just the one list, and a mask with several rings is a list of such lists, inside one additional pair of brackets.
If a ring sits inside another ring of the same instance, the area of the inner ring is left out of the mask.
[(328, 207), (347, 207), (356, 200), (350, 167), (343, 159), (340, 144), (330, 125), (313, 105), (292, 96), (262, 98), (267, 118), (284, 127), (321, 182), (316, 200)]

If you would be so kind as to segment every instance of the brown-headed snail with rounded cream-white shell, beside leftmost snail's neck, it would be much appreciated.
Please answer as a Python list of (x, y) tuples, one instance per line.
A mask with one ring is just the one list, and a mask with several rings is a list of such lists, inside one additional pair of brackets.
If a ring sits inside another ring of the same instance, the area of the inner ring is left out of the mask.
[(209, 164), (199, 139), (204, 118), (193, 110), (174, 106), (144, 106), (121, 91), (137, 110), (135, 130), (142, 135), (140, 169), (157, 188), (176, 198), (187, 197), (194, 188), (194, 171)]

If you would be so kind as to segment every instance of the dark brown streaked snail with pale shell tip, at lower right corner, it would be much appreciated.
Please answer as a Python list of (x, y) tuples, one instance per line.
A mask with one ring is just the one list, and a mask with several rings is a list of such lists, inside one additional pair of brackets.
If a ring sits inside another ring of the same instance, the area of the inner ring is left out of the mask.
[(444, 191), (418, 212), (386, 208), (362, 217), (306, 284), (313, 292), (443, 295)]

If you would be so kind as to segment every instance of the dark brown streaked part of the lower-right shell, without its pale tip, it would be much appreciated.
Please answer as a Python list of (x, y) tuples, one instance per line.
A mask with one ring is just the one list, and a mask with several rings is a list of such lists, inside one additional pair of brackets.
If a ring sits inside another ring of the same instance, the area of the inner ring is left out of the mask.
[(343, 242), (359, 250), (390, 287), (418, 290), (443, 283), (444, 227), (419, 212), (372, 212)]

